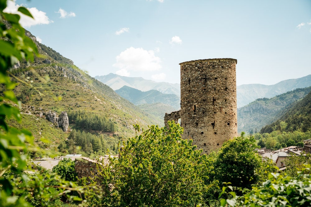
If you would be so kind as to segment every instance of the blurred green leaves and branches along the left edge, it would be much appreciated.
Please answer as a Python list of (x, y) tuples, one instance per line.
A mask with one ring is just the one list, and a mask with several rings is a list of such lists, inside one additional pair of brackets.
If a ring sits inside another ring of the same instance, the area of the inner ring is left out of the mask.
[[(21, 107), (13, 89), (16, 83), (8, 76), (8, 70), (18, 61), (33, 61), (38, 55), (35, 43), (25, 35), (19, 24), (20, 16), (3, 12), (7, 0), (0, 0), (0, 203), (1, 206), (51, 206), (68, 192), (82, 191), (73, 182), (67, 182), (49, 173), (26, 173), (27, 147), (33, 143), (32, 134), (26, 129), (8, 126), (6, 120), (14, 117), (21, 121), (16, 104)], [(18, 11), (32, 18), (30, 12), (19, 7)], [(82, 196), (72, 199), (82, 200)]]

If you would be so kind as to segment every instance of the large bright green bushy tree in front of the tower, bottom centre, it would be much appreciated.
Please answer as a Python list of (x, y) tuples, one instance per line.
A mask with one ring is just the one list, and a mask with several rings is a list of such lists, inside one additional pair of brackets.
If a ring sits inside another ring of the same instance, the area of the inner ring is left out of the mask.
[(169, 122), (169, 129), (150, 126), (130, 138), (120, 158), (111, 159), (100, 172), (103, 205), (195, 206), (203, 202), (207, 156), (195, 150), (192, 140), (182, 139), (182, 133), (179, 124)]

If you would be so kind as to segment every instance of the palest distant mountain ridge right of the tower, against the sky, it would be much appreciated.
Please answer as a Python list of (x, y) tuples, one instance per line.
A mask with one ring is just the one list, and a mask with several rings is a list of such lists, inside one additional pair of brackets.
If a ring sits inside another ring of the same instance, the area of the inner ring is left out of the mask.
[(296, 88), (306, 88), (309, 86), (311, 86), (311, 75), (298, 79), (283, 80), (274, 85), (240, 85), (237, 86), (237, 106), (240, 108), (256, 100), (257, 98), (272, 98), (276, 95), (295, 90)]

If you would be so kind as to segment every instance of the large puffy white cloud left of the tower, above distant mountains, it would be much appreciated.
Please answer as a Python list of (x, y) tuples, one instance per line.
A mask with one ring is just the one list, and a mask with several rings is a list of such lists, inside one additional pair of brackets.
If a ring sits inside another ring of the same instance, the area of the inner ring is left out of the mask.
[(118, 73), (129, 76), (130, 71), (154, 71), (162, 68), (160, 58), (155, 56), (153, 50), (143, 48), (127, 48), (116, 57), (117, 63), (113, 66), (119, 68)]

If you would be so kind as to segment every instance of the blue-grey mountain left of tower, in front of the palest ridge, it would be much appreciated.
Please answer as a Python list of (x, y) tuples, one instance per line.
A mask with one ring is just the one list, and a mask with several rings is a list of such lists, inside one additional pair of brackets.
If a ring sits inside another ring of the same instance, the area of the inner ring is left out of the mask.
[(157, 90), (143, 92), (128, 86), (123, 86), (115, 92), (135, 105), (163, 103), (169, 104), (176, 110), (180, 108), (180, 98), (175, 94), (164, 94)]

